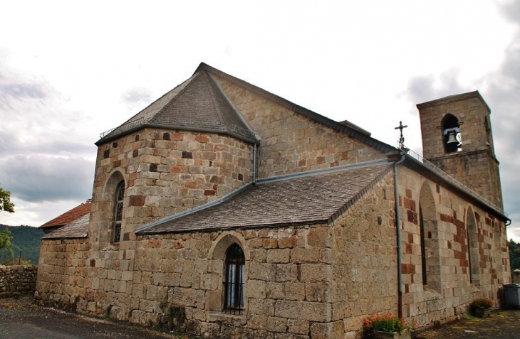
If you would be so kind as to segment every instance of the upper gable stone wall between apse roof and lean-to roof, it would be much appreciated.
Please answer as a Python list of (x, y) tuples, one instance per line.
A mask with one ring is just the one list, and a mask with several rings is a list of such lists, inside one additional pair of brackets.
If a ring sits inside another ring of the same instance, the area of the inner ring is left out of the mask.
[(373, 146), (221, 77), (214, 77), (251, 129), (261, 138), (259, 178), (385, 158), (385, 154)]

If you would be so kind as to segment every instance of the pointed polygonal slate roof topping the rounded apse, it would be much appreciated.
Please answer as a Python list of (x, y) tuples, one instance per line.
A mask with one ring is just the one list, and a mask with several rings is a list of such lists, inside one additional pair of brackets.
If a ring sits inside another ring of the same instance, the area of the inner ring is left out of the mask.
[(105, 132), (96, 145), (145, 127), (209, 131), (251, 143), (258, 138), (206, 70), (196, 72), (127, 122)]

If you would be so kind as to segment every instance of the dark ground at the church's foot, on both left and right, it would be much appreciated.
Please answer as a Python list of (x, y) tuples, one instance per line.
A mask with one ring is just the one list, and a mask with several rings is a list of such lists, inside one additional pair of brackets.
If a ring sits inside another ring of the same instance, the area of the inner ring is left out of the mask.
[[(80, 316), (33, 304), (33, 298), (0, 299), (0, 339), (189, 339), (175, 333), (159, 333), (142, 326)], [(192, 339), (194, 337), (191, 337)], [(430, 330), (415, 331), (415, 339), (520, 339), (520, 310), (492, 312), (489, 318), (466, 316)]]

